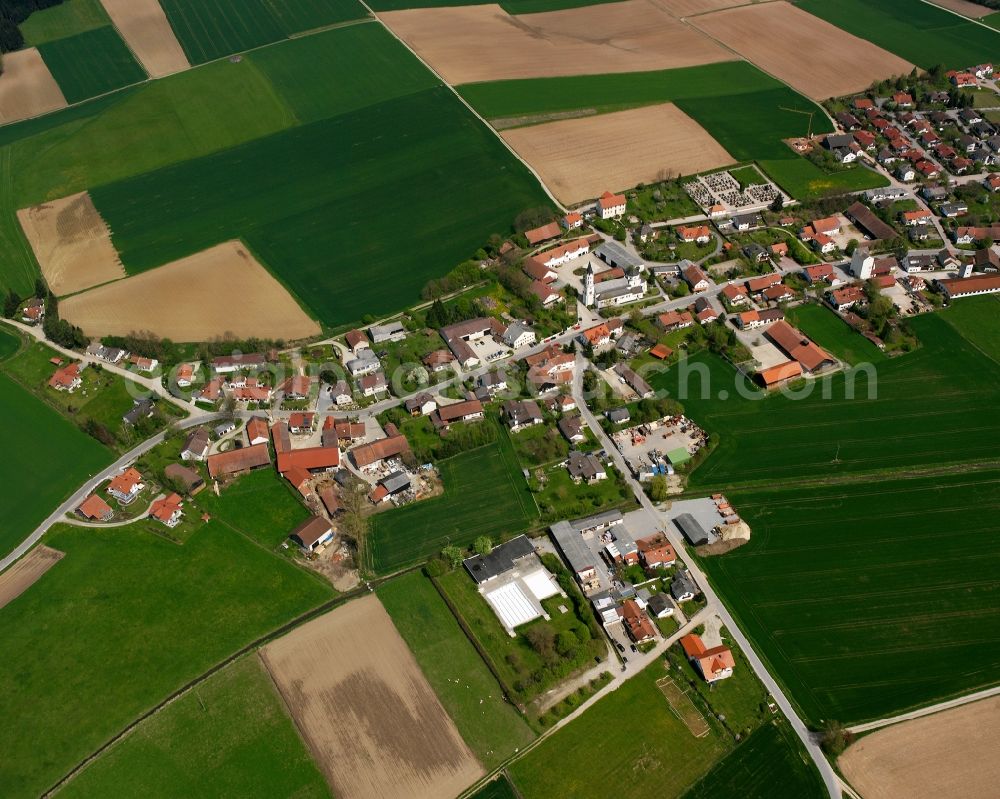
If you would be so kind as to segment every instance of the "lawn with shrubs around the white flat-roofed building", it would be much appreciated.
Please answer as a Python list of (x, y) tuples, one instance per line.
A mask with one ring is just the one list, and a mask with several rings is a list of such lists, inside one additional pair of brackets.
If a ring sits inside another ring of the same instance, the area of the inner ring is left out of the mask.
[[(550, 557), (555, 558), (555, 555)], [(493, 608), (476, 589), (476, 584), (464, 568), (438, 578), (438, 584), (447, 594), (450, 604), (472, 631), (511, 699), (525, 705), (573, 672), (607, 659), (607, 644), (589, 603), (576, 590), (573, 578), (565, 569), (563, 574), (561, 582), (573, 590), (576, 603), (561, 596), (543, 600), (542, 607), (550, 619), (545, 621), (539, 618), (518, 627), (513, 638), (500, 624)], [(561, 612), (560, 606), (566, 607), (568, 612)], [(532, 628), (543, 625), (550, 627), (556, 636), (570, 633), (572, 647), (557, 651), (551, 659), (543, 657), (527, 638)]]

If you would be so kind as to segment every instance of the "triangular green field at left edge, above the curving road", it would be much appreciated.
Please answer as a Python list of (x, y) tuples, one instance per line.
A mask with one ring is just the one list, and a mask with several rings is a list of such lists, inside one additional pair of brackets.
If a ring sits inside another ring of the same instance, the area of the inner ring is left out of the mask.
[[(7, 347), (5, 333), (0, 343)], [(10, 457), (0, 466), (0, 556), (21, 543), (90, 475), (114, 460), (76, 425), (0, 374), (0, 416)]]

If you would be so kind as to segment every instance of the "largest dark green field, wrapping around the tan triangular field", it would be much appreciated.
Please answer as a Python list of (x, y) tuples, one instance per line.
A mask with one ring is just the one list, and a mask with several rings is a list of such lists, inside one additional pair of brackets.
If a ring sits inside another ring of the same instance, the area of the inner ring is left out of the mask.
[(430, 278), (545, 201), (444, 88), (91, 194), (129, 272), (242, 237), (330, 325), (411, 303)]

